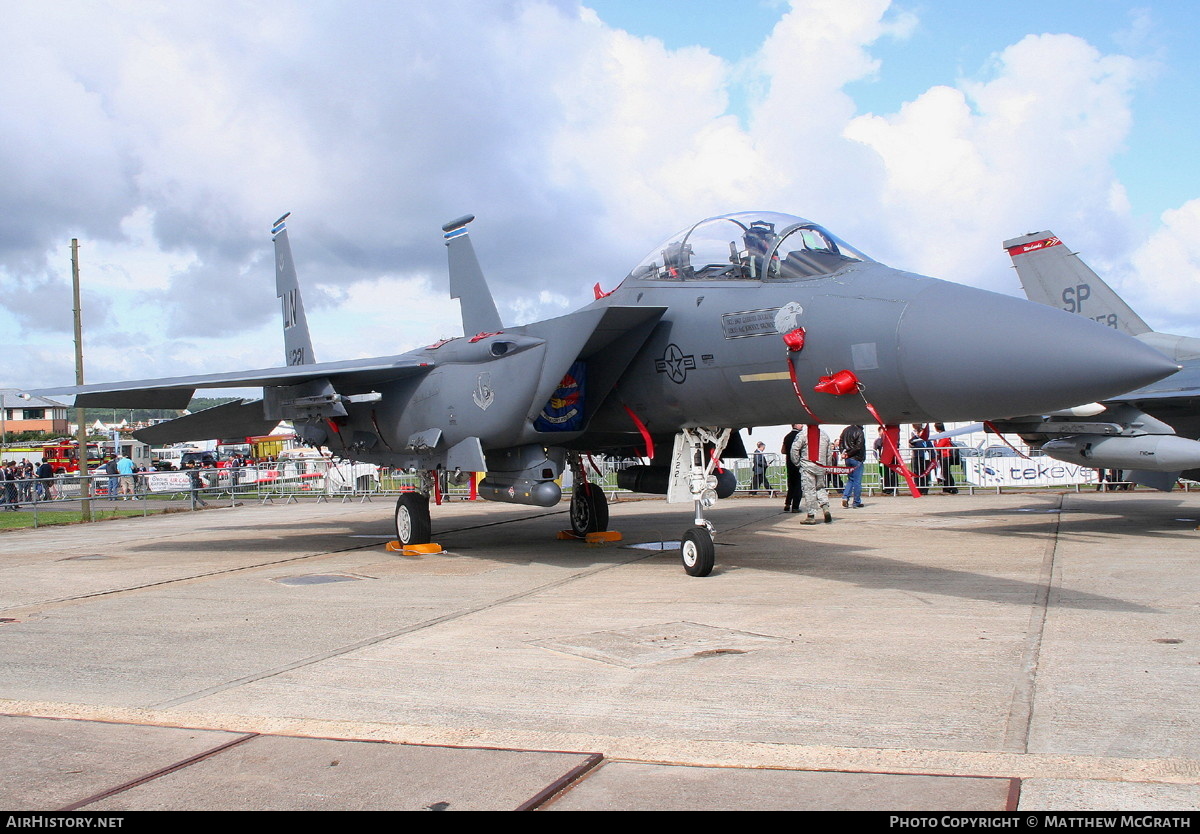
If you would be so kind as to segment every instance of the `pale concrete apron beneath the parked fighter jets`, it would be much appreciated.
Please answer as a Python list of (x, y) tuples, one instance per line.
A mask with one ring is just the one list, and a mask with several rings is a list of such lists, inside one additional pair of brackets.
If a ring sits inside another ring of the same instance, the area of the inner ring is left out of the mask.
[(1200, 805), (1200, 496), (888, 498), (815, 527), (737, 499), (704, 580), (628, 547), (688, 508), (617, 504), (604, 546), (557, 541), (562, 511), (439, 510), (422, 557), (383, 551), (382, 502), (0, 535), (0, 713), (37, 716), (0, 726), (40, 751), (0, 763), (0, 799), (517, 808), (569, 778), (548, 806)]

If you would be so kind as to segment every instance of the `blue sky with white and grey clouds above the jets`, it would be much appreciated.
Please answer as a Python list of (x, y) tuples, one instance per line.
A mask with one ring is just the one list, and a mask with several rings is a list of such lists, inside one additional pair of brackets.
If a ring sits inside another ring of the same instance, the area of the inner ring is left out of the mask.
[(1200, 335), (1200, 4), (0, 0), (0, 386), (282, 364), (284, 211), (318, 360), (458, 335), (439, 227), (505, 322), (704, 216), (809, 217), (1019, 294), (1052, 229)]

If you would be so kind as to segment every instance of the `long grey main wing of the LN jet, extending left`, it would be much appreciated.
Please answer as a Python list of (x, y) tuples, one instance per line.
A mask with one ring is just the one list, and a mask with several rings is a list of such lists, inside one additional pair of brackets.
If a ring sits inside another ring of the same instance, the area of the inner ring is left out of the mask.
[(259, 388), (298, 385), (328, 379), (342, 391), (370, 388), (433, 368), (433, 364), (408, 355), (379, 359), (352, 359), (292, 367), (270, 367), (230, 373), (203, 373), (191, 377), (133, 379), (119, 383), (47, 388), (30, 391), (37, 396), (74, 395), (76, 408), (170, 408), (184, 409), (200, 388)]

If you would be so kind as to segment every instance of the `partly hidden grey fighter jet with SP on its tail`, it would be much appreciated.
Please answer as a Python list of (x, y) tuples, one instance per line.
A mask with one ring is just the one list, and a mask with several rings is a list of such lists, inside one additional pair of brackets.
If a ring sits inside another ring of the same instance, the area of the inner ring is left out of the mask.
[(1050, 232), (1004, 241), (1031, 301), (1060, 307), (1157, 348), (1180, 370), (1170, 377), (1091, 407), (997, 424), (1050, 457), (1169, 491), (1200, 479), (1200, 338), (1151, 330), (1099, 276)]

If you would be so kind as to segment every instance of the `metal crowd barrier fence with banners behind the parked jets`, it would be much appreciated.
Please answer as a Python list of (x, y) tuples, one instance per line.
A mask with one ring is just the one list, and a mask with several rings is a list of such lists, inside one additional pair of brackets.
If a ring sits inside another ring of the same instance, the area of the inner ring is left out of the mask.
[[(916, 451), (916, 456), (914, 452)], [(941, 461), (937, 450), (904, 449), (905, 462), (917, 476), (923, 491), (937, 492), (949, 488), (942, 484)], [(738, 479), (737, 493), (742, 496), (780, 497), (787, 490), (784, 456), (766, 454), (762, 480), (755, 478), (754, 458), (722, 461)], [(640, 460), (586, 458), (587, 476), (599, 485), (610, 498), (631, 496), (617, 485), (622, 469), (644, 463)], [(1130, 488), (1116, 475), (1100, 480), (1097, 470), (1072, 468), (1044, 456), (962, 456), (950, 467), (953, 488), (959, 492), (1003, 492), (1042, 490), (1120, 490)], [(1068, 481), (1039, 482), (1051, 475), (1064, 475)], [(991, 479), (991, 480), (989, 480)], [(86, 482), (88, 488), (84, 490)], [(301, 458), (247, 467), (184, 469), (176, 472), (149, 472), (134, 475), (92, 474), (85, 478), (59, 474), (53, 479), (20, 479), (0, 482), (0, 510), (34, 514), (34, 524), (40, 523), (38, 514), (60, 512), (67, 509), (79, 511), (79, 502), (86, 497), (94, 512), (109, 515), (149, 515), (158, 511), (197, 510), (208, 506), (236, 505), (251, 502), (262, 504), (294, 503), (305, 499), (317, 502), (370, 502), (401, 492), (420, 488), (420, 473), (376, 467), (368, 463), (349, 463), (324, 458)], [(827, 488), (840, 491), (844, 476), (830, 475)], [(1183, 488), (1193, 484), (1184, 481)], [(564, 492), (571, 488), (570, 474), (563, 479)], [(886, 475), (877, 461), (864, 464), (863, 494), (907, 494), (906, 480), (896, 474)], [(463, 474), (452, 476), (443, 473), (438, 482), (442, 500), (468, 500), (474, 498), (472, 479)], [(52, 521), (52, 518), (47, 518)], [(2, 523), (0, 523), (2, 526)]]

